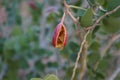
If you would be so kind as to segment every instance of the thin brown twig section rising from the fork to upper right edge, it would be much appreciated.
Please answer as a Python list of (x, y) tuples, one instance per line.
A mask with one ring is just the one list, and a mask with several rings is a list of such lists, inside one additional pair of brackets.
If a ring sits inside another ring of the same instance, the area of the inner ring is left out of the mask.
[(95, 28), (96, 25), (97, 25), (104, 17), (106, 17), (107, 15), (110, 15), (110, 14), (116, 12), (118, 9), (120, 9), (120, 6), (117, 6), (117, 7), (116, 7), (115, 9), (113, 9), (112, 11), (109, 11), (109, 12), (105, 13), (104, 15), (102, 15), (101, 17), (99, 17), (92, 26), (86, 28), (86, 30)]

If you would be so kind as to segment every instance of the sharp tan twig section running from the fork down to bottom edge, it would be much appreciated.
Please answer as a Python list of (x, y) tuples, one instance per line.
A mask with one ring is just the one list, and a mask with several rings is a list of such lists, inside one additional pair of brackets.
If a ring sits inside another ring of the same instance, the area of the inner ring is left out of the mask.
[(79, 61), (79, 59), (80, 59), (80, 54), (81, 54), (81, 52), (82, 52), (82, 50), (83, 50), (84, 44), (85, 44), (85, 42), (86, 42), (86, 38), (87, 38), (87, 36), (88, 36), (89, 33), (90, 33), (90, 30), (87, 31), (87, 33), (85, 34), (85, 36), (84, 36), (84, 38), (83, 38), (83, 41), (82, 41), (82, 43), (81, 43), (81, 47), (80, 47), (80, 50), (79, 50), (78, 55), (77, 55), (77, 59), (76, 59), (76, 62), (75, 62), (75, 66), (74, 66), (74, 68), (73, 68), (73, 73), (72, 73), (71, 80), (73, 80), (74, 77), (75, 77), (76, 69), (77, 69), (77, 66), (78, 66), (78, 61)]

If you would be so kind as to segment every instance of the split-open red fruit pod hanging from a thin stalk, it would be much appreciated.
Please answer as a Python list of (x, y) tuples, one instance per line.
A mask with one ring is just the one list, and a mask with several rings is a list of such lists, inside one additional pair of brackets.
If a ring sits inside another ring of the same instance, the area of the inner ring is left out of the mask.
[(54, 30), (52, 45), (56, 48), (62, 49), (66, 45), (67, 40), (68, 34), (66, 27), (63, 25), (63, 23), (59, 23)]

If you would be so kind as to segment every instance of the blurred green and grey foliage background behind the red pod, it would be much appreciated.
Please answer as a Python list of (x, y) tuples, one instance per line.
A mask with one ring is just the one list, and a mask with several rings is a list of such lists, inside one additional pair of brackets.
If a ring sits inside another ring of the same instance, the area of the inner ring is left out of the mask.
[[(88, 8), (101, 5), (110, 11), (120, 0), (67, 0), (68, 4)], [(85, 11), (71, 9), (75, 17)], [(80, 39), (74, 22), (67, 15), (65, 26), (68, 41), (64, 49), (52, 46), (54, 28), (64, 13), (62, 0), (0, 0), (0, 80), (30, 80), (54, 74), (60, 80), (70, 80), (80, 48)], [(99, 15), (104, 14), (98, 11)], [(86, 17), (88, 19), (89, 17)], [(95, 17), (96, 18), (96, 17)], [(84, 23), (83, 23), (84, 24)], [(120, 34), (120, 9), (105, 17), (87, 38), (87, 70), (84, 80), (120, 80), (120, 38), (101, 53)], [(99, 61), (100, 60), (100, 61)], [(100, 62), (97, 69), (95, 64)], [(77, 76), (80, 75), (80, 63)]]

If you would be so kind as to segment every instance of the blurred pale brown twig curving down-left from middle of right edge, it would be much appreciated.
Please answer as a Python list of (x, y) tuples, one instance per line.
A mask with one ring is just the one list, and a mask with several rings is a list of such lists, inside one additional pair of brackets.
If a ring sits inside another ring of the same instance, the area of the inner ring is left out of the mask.
[(105, 53), (109, 50), (109, 48), (111, 47), (111, 45), (112, 45), (117, 39), (119, 39), (119, 38), (120, 38), (120, 34), (113, 36), (112, 39), (109, 40), (108, 45), (106, 45), (106, 46), (103, 48), (103, 50), (101, 50), (101, 53), (100, 53), (100, 54), (101, 54), (101, 58), (100, 58), (100, 60), (97, 61), (97, 63), (95, 64), (95, 68), (94, 68), (95, 70), (97, 69), (100, 61), (101, 61), (101, 60), (103, 59), (103, 57), (105, 56)]

